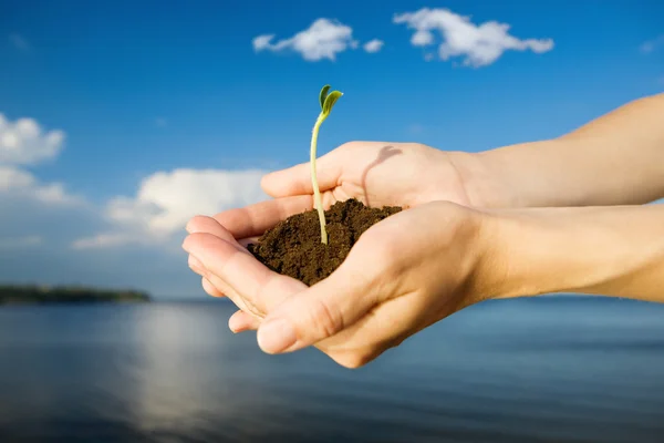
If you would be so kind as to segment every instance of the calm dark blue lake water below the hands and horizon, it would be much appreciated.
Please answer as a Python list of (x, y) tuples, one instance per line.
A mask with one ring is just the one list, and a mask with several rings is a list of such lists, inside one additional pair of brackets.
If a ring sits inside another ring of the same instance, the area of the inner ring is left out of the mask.
[(664, 306), (491, 301), (359, 370), (225, 301), (0, 308), (0, 442), (663, 442)]

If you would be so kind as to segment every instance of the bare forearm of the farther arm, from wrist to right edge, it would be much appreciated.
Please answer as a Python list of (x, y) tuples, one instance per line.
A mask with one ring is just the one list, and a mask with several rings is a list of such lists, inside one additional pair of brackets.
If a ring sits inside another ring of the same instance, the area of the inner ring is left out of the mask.
[(636, 205), (664, 197), (664, 94), (559, 138), (457, 153), (475, 206)]

